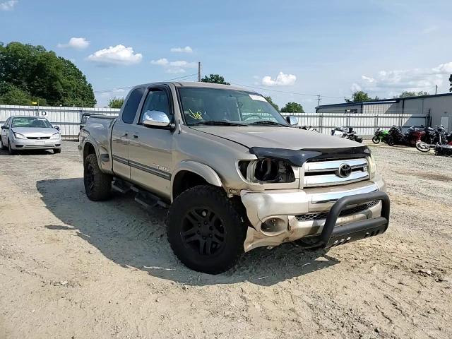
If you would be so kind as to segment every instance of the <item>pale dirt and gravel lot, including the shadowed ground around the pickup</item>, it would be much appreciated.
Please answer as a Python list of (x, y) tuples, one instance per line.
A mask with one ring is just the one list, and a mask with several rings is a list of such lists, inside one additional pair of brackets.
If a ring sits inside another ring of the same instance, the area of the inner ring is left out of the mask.
[(257, 249), (211, 276), (177, 261), (163, 209), (93, 203), (76, 143), (0, 154), (0, 338), (452, 338), (452, 159), (372, 146), (388, 232)]

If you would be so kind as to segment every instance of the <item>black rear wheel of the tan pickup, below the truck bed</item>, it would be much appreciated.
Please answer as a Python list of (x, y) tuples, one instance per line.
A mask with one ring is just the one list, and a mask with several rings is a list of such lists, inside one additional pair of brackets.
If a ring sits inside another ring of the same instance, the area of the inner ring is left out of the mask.
[(100, 170), (95, 154), (85, 157), (83, 184), (86, 196), (92, 201), (107, 200), (112, 194), (112, 176)]

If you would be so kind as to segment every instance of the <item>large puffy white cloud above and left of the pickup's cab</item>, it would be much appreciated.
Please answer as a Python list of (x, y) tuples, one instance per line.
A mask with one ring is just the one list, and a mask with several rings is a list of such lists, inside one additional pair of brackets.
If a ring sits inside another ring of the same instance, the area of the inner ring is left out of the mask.
[(94, 61), (97, 64), (108, 65), (133, 65), (139, 64), (143, 59), (143, 54), (133, 52), (132, 47), (125, 47), (118, 44), (115, 47), (108, 47), (100, 49), (88, 57), (89, 61)]

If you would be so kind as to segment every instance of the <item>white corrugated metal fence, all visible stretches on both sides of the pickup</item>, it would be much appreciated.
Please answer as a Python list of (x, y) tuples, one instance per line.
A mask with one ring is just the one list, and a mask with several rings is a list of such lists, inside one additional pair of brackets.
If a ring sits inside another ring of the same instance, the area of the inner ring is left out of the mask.
[[(83, 113), (117, 116), (119, 109), (114, 108), (83, 108), (83, 107), (37, 107), (0, 105), (0, 123), (16, 115), (33, 115), (46, 117), (52, 124), (59, 126), (64, 138), (77, 138)], [(430, 117), (421, 114), (356, 114), (356, 113), (293, 113), (299, 118), (300, 126), (313, 126), (321, 133), (329, 134), (335, 126), (353, 127), (361, 136), (371, 136), (380, 127), (389, 129), (391, 126), (429, 126)]]

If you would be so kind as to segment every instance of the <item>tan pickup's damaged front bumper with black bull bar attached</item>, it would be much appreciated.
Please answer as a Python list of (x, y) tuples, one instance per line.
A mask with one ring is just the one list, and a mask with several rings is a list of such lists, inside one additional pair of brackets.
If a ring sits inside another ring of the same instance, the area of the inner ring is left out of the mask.
[(305, 247), (328, 247), (381, 234), (388, 227), (389, 198), (379, 182), (333, 190), (242, 191), (252, 227), (244, 250), (301, 239)]

